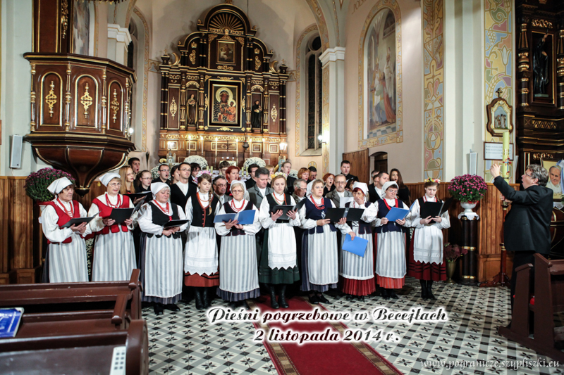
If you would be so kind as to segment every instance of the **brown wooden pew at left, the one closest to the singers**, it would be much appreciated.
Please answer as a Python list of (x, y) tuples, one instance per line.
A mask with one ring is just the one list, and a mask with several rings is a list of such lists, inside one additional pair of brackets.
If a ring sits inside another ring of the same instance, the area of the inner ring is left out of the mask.
[(141, 319), (139, 277), (134, 269), (129, 281), (0, 286), (0, 307), (24, 307), (25, 314), (112, 310), (112, 322), (123, 324), (126, 311), (130, 319)]

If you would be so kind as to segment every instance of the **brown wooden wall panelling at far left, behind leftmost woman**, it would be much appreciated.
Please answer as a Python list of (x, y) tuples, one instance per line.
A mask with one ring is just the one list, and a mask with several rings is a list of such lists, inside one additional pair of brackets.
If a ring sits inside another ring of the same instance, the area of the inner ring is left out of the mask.
[(25, 177), (0, 176), (0, 284), (35, 283), (41, 248), (34, 236), (33, 201)]

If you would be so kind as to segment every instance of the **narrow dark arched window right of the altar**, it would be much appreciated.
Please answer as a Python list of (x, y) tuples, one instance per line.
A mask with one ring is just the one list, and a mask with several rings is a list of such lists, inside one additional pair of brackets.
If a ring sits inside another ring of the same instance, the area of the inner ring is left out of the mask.
[(307, 150), (317, 150), (321, 147), (317, 137), (321, 135), (321, 93), (323, 92), (323, 72), (321, 70), (321, 61), (319, 61), (319, 56), (323, 51), (321, 50), (321, 38), (319, 35), (309, 39), (306, 51), (306, 148)]

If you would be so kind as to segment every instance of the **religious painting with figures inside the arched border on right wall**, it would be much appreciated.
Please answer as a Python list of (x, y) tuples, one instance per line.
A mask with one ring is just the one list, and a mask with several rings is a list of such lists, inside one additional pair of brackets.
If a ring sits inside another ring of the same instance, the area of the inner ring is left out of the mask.
[(396, 132), (396, 18), (391, 9), (382, 8), (372, 19), (364, 58), (367, 80), (364, 136), (372, 138)]

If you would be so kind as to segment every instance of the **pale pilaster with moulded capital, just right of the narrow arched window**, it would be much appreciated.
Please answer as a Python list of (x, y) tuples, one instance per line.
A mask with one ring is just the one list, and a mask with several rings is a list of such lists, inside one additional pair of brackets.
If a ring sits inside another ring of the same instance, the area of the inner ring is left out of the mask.
[(323, 172), (337, 172), (345, 152), (345, 48), (326, 49), (323, 68)]

